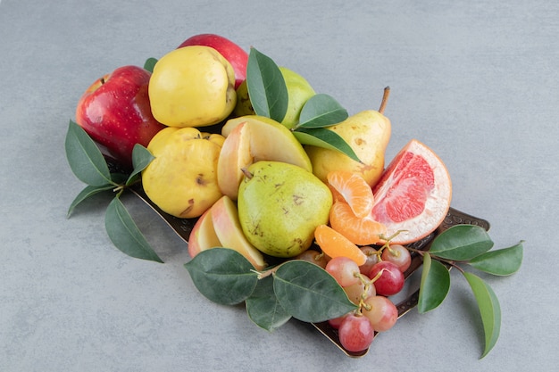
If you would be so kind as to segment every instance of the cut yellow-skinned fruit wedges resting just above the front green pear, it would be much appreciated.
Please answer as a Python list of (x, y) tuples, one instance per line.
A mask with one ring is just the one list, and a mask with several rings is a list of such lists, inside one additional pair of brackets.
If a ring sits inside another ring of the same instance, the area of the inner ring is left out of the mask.
[(221, 193), (237, 200), (242, 169), (256, 161), (283, 161), (308, 171), (313, 165), (296, 137), (275, 120), (246, 115), (230, 119), (221, 128), (225, 141), (217, 163)]

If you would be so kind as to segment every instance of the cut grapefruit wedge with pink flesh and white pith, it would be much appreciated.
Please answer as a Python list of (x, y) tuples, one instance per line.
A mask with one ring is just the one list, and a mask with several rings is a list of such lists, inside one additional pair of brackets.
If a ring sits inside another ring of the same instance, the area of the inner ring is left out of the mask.
[(413, 139), (388, 164), (373, 187), (372, 219), (397, 234), (393, 244), (409, 244), (430, 235), (445, 219), (452, 197), (443, 161), (428, 146)]

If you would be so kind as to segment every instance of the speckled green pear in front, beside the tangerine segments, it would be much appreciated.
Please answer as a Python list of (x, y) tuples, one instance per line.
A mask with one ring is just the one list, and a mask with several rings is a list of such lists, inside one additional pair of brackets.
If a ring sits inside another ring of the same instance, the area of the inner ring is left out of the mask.
[(314, 229), (328, 223), (332, 194), (312, 172), (281, 161), (256, 161), (244, 169), (238, 218), (259, 251), (289, 258), (313, 243)]

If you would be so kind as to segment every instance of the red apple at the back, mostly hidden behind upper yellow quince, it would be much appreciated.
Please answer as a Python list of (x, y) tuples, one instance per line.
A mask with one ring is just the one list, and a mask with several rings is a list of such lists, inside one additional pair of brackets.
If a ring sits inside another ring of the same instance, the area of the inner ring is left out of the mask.
[[(239, 45), (233, 43), (228, 38), (215, 34), (199, 34), (188, 37), (179, 45), (178, 48), (187, 45), (205, 45), (213, 47), (217, 50), (229, 63), (235, 71), (235, 89), (246, 79), (246, 63), (248, 62), (248, 54)], [(178, 49), (177, 48), (177, 49)]]

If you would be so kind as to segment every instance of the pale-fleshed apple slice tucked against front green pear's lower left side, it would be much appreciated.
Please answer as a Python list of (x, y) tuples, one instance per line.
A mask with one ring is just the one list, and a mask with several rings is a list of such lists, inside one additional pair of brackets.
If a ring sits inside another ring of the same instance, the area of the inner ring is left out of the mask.
[(238, 221), (237, 206), (227, 195), (215, 202), (210, 209), (212, 216), (213, 229), (221, 242), (221, 246), (233, 249), (249, 260), (254, 269), (262, 270), (266, 268), (262, 252), (248, 243), (245, 234)]

